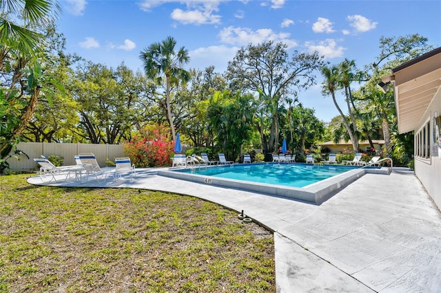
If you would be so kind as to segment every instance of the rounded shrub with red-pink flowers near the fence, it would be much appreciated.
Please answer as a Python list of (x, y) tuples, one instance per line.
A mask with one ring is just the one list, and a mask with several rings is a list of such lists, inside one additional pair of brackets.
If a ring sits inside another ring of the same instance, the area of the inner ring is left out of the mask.
[(130, 142), (124, 142), (124, 151), (137, 167), (170, 166), (170, 157), (174, 144), (165, 134), (163, 125), (156, 125), (152, 130), (146, 127), (145, 135), (135, 136)]

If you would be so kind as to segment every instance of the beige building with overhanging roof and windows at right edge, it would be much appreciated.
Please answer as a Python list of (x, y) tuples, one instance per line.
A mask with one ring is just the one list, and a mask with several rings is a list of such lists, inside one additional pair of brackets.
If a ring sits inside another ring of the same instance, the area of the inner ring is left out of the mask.
[(441, 207), (441, 47), (392, 69), (398, 131), (415, 131), (415, 173)]

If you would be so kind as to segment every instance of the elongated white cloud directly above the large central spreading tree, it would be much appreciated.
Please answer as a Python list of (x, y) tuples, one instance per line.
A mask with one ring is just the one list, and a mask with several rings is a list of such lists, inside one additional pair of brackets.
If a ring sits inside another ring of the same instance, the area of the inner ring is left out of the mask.
[(220, 41), (230, 45), (243, 46), (249, 43), (257, 45), (265, 41), (282, 41), (288, 47), (296, 47), (298, 44), (296, 41), (288, 39), (289, 36), (291, 36), (289, 33), (276, 34), (276, 32), (269, 28), (253, 31), (249, 28), (234, 28), (232, 26), (224, 28), (219, 33)]

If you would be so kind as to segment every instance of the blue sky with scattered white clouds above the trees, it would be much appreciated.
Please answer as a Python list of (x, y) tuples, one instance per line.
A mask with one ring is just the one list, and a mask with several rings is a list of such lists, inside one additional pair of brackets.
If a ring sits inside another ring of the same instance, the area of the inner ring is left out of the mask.
[[(167, 36), (189, 51), (188, 68), (214, 65), (218, 72), (240, 47), (269, 40), (287, 43), (289, 52), (317, 50), (333, 64), (353, 59), (360, 68), (380, 54), (381, 36), (418, 33), (441, 46), (438, 0), (61, 0), (61, 7), (58, 30), (68, 52), (135, 71), (142, 70), (141, 51)], [(320, 82), (298, 98), (329, 122), (338, 111)]]

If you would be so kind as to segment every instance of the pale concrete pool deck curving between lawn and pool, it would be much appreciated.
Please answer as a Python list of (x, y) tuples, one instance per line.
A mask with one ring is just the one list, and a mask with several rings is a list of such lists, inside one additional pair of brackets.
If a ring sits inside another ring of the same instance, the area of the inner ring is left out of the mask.
[(28, 182), (167, 191), (244, 210), (274, 231), (280, 293), (441, 291), (441, 214), (412, 173), (366, 174), (316, 205), (163, 177), (157, 170), (101, 184)]

